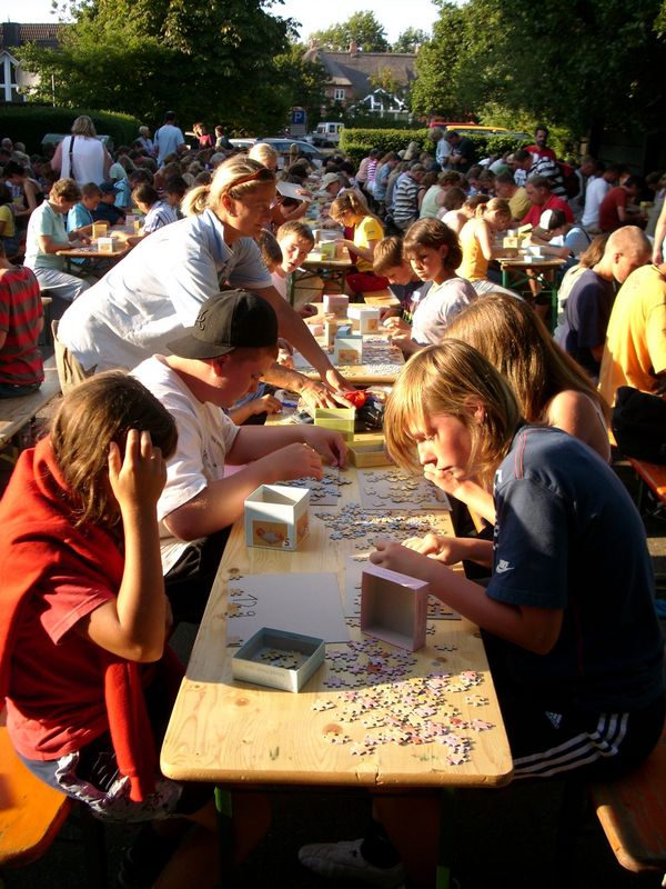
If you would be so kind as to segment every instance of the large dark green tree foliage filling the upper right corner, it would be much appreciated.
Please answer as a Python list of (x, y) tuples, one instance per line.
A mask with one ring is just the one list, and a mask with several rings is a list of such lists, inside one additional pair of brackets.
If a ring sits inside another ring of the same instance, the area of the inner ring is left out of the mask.
[(443, 0), (440, 9), (416, 60), (415, 113), (474, 111), (527, 131), (556, 123), (551, 141), (563, 153), (591, 129), (663, 127), (664, 0)]

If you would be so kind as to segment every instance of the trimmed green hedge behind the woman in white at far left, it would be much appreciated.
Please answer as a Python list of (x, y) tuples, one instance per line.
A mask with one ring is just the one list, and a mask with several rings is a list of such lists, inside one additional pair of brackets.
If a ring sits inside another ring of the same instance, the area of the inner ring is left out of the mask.
[(70, 132), (80, 114), (92, 118), (100, 136), (110, 136), (118, 146), (132, 144), (139, 136), (141, 121), (130, 114), (93, 111), (89, 108), (51, 108), (38, 104), (0, 106), (0, 138), (23, 142), (29, 154), (40, 154), (41, 140), (48, 132)]

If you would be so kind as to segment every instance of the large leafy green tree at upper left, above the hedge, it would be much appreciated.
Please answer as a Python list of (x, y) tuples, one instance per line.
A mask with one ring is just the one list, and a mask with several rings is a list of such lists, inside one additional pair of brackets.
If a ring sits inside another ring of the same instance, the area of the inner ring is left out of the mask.
[(78, 3), (62, 49), (20, 50), (40, 76), (37, 99), (127, 111), (161, 120), (222, 122), (230, 129), (283, 124), (275, 102), (274, 57), (287, 50), (291, 21), (269, 14), (270, 0), (90, 0)]

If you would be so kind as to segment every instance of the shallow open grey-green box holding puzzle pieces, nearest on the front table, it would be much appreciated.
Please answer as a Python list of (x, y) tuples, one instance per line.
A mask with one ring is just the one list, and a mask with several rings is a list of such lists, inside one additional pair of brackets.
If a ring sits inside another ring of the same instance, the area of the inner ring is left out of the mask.
[(234, 679), (300, 691), (324, 662), (323, 639), (263, 627), (231, 659)]

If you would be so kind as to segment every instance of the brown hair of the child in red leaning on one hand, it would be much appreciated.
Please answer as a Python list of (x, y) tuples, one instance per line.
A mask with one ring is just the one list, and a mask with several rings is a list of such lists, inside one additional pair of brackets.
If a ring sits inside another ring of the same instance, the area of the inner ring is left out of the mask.
[(114, 441), (124, 455), (130, 429), (149, 431), (165, 459), (175, 451), (172, 416), (127, 373), (98, 373), (62, 399), (51, 422), (51, 447), (72, 490), (77, 526), (93, 522), (111, 530), (120, 523), (109, 486), (109, 446)]

